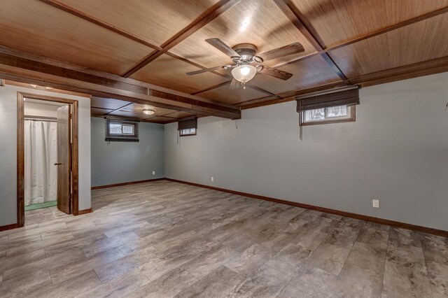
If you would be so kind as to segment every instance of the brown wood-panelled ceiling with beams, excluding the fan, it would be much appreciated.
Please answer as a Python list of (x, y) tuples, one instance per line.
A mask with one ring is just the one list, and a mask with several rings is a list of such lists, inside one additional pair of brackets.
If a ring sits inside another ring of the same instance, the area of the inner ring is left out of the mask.
[[(92, 94), (92, 115), (167, 123), (342, 85), (448, 71), (448, 0), (2, 0), (0, 78)], [(258, 53), (299, 42), (230, 90), (230, 64), (207, 38)], [(146, 115), (142, 110), (155, 110)]]

